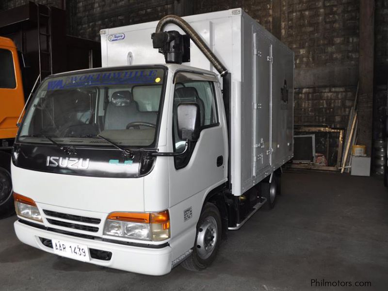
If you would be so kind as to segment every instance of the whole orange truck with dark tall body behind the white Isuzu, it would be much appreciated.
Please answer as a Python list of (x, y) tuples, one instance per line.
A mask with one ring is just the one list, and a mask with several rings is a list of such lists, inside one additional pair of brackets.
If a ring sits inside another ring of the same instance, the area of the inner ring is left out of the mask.
[(15, 212), (11, 151), (16, 123), (51, 74), (101, 66), (101, 44), (66, 34), (66, 11), (27, 1), (0, 11), (0, 219)]

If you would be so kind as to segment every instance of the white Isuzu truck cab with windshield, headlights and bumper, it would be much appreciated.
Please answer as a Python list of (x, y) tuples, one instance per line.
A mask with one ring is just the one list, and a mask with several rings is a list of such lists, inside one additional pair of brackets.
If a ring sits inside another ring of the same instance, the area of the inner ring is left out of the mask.
[[(74, 233), (77, 243), (111, 257), (91, 253), (97, 264), (168, 273), (191, 248), (207, 195), (227, 180), (216, 75), (184, 65), (58, 74), (43, 81), (27, 112), (12, 164), (18, 238), (54, 252), (46, 240), (72, 242)], [(142, 213), (168, 219), (144, 223)], [(123, 255), (123, 244), (141, 247), (139, 259)]]

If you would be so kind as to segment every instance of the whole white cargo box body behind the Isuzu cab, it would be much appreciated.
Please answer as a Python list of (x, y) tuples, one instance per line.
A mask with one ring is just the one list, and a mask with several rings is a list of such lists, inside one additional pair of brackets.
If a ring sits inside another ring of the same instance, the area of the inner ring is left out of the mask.
[[(293, 52), (242, 9), (183, 19), (231, 74), (230, 175), (232, 193), (241, 195), (293, 156)], [(164, 64), (152, 46), (157, 24), (101, 30), (102, 66)], [(182, 65), (216, 72), (192, 41)]]

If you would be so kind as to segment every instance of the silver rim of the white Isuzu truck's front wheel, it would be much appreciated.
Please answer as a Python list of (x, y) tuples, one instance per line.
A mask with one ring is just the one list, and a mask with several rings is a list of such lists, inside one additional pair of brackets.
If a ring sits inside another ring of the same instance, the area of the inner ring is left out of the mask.
[(218, 240), (217, 222), (214, 217), (208, 216), (198, 227), (197, 254), (201, 259), (208, 259)]

